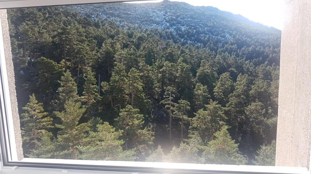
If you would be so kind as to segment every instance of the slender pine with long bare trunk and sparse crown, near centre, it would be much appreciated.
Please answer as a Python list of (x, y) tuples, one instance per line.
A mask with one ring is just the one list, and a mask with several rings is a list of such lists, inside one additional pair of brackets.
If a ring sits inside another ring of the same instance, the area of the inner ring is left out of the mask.
[(176, 93), (176, 89), (168, 86), (165, 89), (164, 99), (160, 102), (162, 104), (165, 104), (166, 112), (169, 114), (169, 141), (172, 141), (172, 115), (175, 111), (176, 105), (176, 103), (174, 103), (173, 101)]

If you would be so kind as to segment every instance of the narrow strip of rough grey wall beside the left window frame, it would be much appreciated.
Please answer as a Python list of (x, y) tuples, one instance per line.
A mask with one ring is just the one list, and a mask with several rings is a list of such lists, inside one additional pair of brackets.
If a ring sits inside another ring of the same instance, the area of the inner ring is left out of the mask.
[(18, 160), (23, 159), (23, 149), (21, 142), (21, 128), (20, 120), (17, 110), (17, 99), (16, 99), (16, 90), (15, 90), (15, 79), (14, 79), (14, 67), (12, 62), (12, 52), (11, 52), (11, 42), (9, 36), (9, 28), (7, 22), (7, 10), (0, 10), (1, 26), (2, 26), (2, 35), (5, 51), (5, 61), (7, 65), (7, 76), (9, 80), (9, 90), (10, 90), (10, 99), (12, 107), (12, 115), (14, 122), (14, 133), (16, 141), (16, 150)]

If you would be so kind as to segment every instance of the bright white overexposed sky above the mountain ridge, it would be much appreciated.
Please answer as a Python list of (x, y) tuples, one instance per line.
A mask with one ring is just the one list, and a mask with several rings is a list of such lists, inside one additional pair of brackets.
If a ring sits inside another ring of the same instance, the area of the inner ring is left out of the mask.
[[(130, 3), (161, 2), (137, 1)], [(194, 6), (212, 6), (222, 11), (240, 14), (249, 20), (282, 30), (284, 0), (170, 0), (187, 2)]]

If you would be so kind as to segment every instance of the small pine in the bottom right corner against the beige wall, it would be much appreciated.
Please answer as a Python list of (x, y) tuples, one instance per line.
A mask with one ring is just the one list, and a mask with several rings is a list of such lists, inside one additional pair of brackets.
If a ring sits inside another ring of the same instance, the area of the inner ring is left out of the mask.
[(257, 150), (253, 163), (258, 166), (275, 166), (276, 141), (273, 140), (269, 145), (262, 145)]

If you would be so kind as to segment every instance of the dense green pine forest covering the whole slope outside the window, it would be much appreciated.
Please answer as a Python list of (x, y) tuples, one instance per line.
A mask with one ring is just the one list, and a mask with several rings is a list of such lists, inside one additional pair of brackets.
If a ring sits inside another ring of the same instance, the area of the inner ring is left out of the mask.
[(274, 165), (279, 30), (169, 1), (7, 14), (25, 157)]

